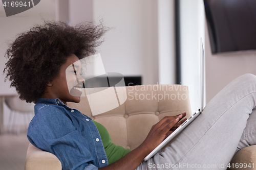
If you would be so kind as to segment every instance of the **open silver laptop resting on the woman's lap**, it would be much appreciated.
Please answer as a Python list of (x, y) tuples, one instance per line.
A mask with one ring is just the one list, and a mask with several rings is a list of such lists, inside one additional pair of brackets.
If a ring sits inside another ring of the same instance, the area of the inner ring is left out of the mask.
[(172, 139), (174, 139), (175, 136), (177, 136), (183, 129), (185, 129), (193, 120), (199, 116), (199, 114), (202, 113), (203, 107), (204, 107), (204, 68), (205, 68), (205, 55), (204, 55), (204, 47), (203, 42), (201, 38), (201, 68), (200, 68), (200, 108), (187, 120), (179, 126), (172, 134), (170, 134), (166, 139), (164, 139), (150, 154), (148, 154), (144, 161), (147, 161), (148, 159), (152, 158), (156, 153), (162, 151), (162, 149), (165, 147), (166, 144), (168, 144)]

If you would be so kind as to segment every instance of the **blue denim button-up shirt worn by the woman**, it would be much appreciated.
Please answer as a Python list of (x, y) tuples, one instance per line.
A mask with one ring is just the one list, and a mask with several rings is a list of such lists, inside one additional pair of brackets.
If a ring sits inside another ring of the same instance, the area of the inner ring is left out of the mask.
[(98, 169), (108, 158), (92, 119), (59, 99), (38, 99), (27, 133), (29, 141), (58, 157), (62, 169)]

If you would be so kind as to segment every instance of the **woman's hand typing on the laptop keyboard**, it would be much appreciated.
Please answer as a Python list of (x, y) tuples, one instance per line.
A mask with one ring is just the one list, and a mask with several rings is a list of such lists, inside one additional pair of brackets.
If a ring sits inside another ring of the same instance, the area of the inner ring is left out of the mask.
[(180, 121), (186, 113), (176, 116), (165, 116), (157, 124), (153, 125), (146, 139), (141, 145), (150, 153), (153, 151), (166, 137), (173, 133), (185, 120)]

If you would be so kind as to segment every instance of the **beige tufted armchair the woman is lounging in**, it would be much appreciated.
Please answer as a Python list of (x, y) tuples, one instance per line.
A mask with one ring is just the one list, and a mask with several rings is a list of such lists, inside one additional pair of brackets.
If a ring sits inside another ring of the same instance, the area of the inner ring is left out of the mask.
[[(112, 142), (126, 149), (137, 148), (151, 127), (164, 116), (183, 112), (187, 113), (186, 117), (191, 115), (187, 86), (141, 85), (116, 88), (123, 92), (126, 88), (127, 100), (108, 112), (93, 116), (86, 97), (82, 97), (79, 104), (68, 103), (68, 106), (102, 124), (109, 131)], [(105, 96), (105, 100), (109, 100), (108, 96)], [(251, 162), (256, 166), (256, 145), (239, 151), (232, 160), (234, 164), (237, 162)], [(25, 169), (60, 170), (61, 163), (55, 155), (41, 151), (30, 143)]]

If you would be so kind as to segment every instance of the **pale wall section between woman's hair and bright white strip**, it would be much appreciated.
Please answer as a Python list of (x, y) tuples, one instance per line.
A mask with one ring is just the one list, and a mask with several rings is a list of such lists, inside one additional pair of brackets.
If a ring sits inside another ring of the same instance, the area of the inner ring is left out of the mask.
[(107, 27), (99, 47), (106, 72), (142, 76), (143, 84), (158, 82), (157, 1), (95, 0), (93, 18)]

